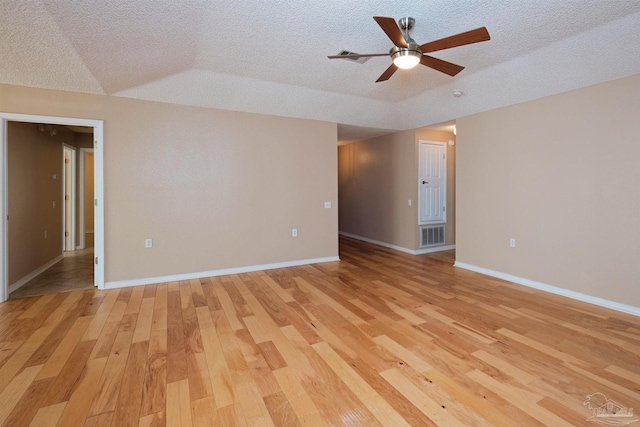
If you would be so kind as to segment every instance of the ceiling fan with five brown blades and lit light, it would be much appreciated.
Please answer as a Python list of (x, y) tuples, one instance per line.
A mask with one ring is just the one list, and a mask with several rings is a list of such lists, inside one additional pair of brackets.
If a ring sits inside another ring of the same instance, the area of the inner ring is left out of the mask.
[(415, 67), (418, 63), (450, 76), (455, 76), (462, 71), (464, 67), (443, 61), (442, 59), (434, 58), (433, 56), (425, 55), (425, 53), (483, 42), (491, 39), (486, 27), (480, 27), (475, 30), (466, 31), (454, 36), (418, 45), (411, 37), (409, 37), (409, 31), (413, 28), (413, 25), (416, 22), (415, 19), (410, 17), (401, 18), (398, 20), (398, 25), (396, 25), (396, 21), (393, 18), (385, 16), (374, 16), (373, 19), (375, 19), (378, 25), (382, 28), (382, 31), (384, 31), (393, 42), (394, 46), (389, 50), (389, 53), (347, 53), (344, 55), (332, 55), (328, 58), (355, 59), (370, 56), (391, 56), (391, 59), (393, 60), (392, 64), (384, 73), (382, 73), (378, 80), (376, 80), (376, 83), (389, 80), (398, 68), (409, 69)]

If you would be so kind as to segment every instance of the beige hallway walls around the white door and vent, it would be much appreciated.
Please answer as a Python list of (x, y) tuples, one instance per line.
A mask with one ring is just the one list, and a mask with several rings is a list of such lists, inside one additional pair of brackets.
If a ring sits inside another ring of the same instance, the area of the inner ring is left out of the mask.
[[(338, 149), (340, 231), (406, 249), (420, 248), (418, 144), (447, 142), (448, 132), (408, 130)], [(455, 151), (447, 146), (447, 244), (455, 242)], [(412, 200), (412, 206), (408, 200)]]

